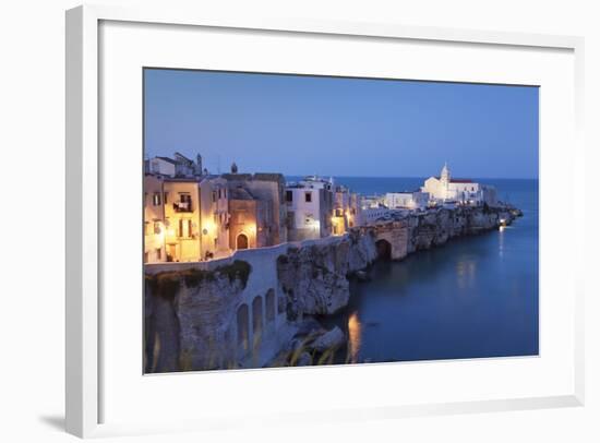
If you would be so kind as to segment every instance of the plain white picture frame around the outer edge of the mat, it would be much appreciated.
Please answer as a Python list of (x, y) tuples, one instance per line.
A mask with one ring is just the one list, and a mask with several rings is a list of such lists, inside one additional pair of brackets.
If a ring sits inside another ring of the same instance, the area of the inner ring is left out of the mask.
[[(251, 21), (243, 17), (206, 17), (203, 11), (170, 11), (168, 9), (120, 9), (113, 7), (79, 7), (67, 12), (67, 430), (85, 438), (105, 433), (158, 430), (132, 423), (129, 428), (103, 422), (99, 408), (104, 395), (100, 362), (103, 303), (99, 199), (99, 26), (101, 22), (168, 24), (269, 31), (347, 37), (379, 37), (416, 41), (447, 41), (530, 48), (559, 48), (573, 51), (575, 60), (573, 155), (575, 165), (584, 161), (583, 146), (583, 51), (584, 40), (573, 36), (517, 34), (467, 31), (439, 27), (413, 27), (389, 24), (314, 22), (302, 20)], [(583, 175), (583, 167), (580, 168)], [(583, 180), (583, 177), (579, 178)], [(583, 207), (583, 206), (581, 206)], [(576, 215), (580, 226), (577, 235), (583, 242), (584, 214)], [(422, 405), (381, 405), (377, 408), (332, 410), (328, 418), (377, 418), (407, 415), (458, 414), (543, 407), (576, 406), (584, 403), (584, 291), (581, 276), (573, 290), (575, 331), (573, 334), (573, 390), (566, 395), (513, 397)], [(142, 375), (140, 375), (142, 376)], [(310, 412), (307, 412), (310, 415)], [(189, 426), (203, 429), (202, 417)], [(287, 417), (293, 420), (295, 416)], [(268, 421), (268, 420), (267, 420)], [(291, 421), (290, 421), (291, 422)], [(180, 424), (173, 424), (179, 427)], [(224, 424), (225, 426), (225, 424)]]

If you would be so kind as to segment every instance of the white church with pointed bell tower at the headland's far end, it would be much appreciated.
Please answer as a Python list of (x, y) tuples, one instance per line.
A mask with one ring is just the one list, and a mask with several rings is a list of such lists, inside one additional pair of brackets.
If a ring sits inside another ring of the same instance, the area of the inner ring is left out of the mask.
[(428, 192), (430, 200), (435, 202), (456, 202), (461, 204), (494, 206), (497, 203), (494, 187), (477, 183), (470, 179), (455, 179), (451, 177), (447, 165), (444, 165), (440, 177), (430, 177), (421, 187)]

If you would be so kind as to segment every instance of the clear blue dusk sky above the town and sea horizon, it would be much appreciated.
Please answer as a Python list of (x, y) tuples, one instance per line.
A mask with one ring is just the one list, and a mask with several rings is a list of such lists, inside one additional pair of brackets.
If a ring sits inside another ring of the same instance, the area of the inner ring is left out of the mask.
[(211, 172), (538, 178), (538, 87), (145, 70), (145, 154)]

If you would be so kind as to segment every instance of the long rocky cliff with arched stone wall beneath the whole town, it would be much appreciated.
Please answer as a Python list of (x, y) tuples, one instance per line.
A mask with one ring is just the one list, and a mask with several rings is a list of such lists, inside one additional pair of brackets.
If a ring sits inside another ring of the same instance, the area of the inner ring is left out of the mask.
[(364, 274), (382, 242), (387, 256), (401, 259), (518, 215), (512, 207), (439, 208), (211, 262), (146, 265), (146, 372), (255, 368), (281, 355), (281, 364), (305, 363), (304, 348), (325, 346), (320, 336), (344, 342), (311, 316), (348, 304), (349, 276)]

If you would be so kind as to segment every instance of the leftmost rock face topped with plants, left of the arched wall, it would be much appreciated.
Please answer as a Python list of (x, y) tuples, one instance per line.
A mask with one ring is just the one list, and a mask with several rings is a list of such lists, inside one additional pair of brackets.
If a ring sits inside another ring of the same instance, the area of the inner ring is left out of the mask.
[(235, 316), (250, 273), (236, 261), (146, 275), (146, 372), (237, 368)]

